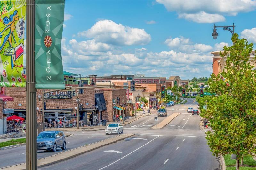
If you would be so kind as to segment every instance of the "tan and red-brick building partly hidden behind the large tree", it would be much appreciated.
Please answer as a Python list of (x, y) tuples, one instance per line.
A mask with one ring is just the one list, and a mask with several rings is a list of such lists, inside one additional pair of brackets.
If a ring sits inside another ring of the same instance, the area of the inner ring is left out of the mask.
[[(225, 64), (226, 64), (226, 58), (220, 56), (220, 51), (213, 51), (213, 52), (211, 52), (211, 54), (214, 55), (212, 57), (212, 59), (213, 59), (213, 63), (212, 63), (213, 73), (215, 75), (217, 75), (218, 73), (223, 71), (223, 69), (225, 67)], [(254, 57), (255, 57), (255, 51), (252, 51), (252, 53), (250, 54), (250, 59), (249, 60), (251, 60)], [(256, 63), (252, 63), (252, 65), (254, 67), (256, 67)]]

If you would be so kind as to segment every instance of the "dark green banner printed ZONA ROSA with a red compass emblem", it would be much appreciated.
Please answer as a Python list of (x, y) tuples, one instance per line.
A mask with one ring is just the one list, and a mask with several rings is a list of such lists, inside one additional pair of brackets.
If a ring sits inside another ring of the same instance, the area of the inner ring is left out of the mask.
[(36, 0), (36, 89), (65, 89), (61, 58), (64, 0)]

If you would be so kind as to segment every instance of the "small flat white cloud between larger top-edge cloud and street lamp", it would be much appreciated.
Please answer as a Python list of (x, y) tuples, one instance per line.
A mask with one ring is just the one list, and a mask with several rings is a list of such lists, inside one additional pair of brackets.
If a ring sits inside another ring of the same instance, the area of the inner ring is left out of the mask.
[(188, 21), (193, 21), (197, 23), (215, 23), (225, 21), (225, 17), (220, 14), (208, 14), (204, 11), (195, 14), (179, 14), (179, 18), (184, 18)]

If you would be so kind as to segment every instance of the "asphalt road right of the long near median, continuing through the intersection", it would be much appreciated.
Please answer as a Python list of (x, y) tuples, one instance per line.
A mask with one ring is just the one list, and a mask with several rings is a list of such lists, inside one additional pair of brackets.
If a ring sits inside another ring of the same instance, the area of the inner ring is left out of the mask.
[(219, 169), (218, 158), (210, 152), (204, 131), (199, 129), (200, 117), (187, 113), (187, 107), (196, 109), (197, 103), (188, 99), (186, 104), (167, 108), (168, 115), (181, 114), (163, 129), (150, 129), (156, 124), (154, 113), (124, 127), (125, 133), (136, 134), (131, 138), (39, 169)]

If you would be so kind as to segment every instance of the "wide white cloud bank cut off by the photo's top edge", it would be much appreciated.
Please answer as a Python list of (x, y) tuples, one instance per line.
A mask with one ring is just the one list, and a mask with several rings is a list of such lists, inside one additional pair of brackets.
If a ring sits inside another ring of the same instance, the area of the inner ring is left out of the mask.
[(198, 23), (225, 21), (224, 15), (236, 16), (240, 12), (256, 9), (256, 1), (251, 0), (156, 0), (168, 11), (176, 11), (179, 18)]

